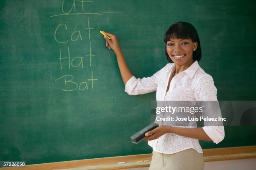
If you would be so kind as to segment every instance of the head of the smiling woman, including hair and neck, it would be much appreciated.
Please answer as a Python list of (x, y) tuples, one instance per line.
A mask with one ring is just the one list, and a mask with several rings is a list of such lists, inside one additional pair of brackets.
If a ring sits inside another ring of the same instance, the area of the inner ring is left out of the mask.
[(197, 30), (190, 23), (178, 22), (173, 24), (165, 33), (166, 58), (171, 63), (176, 64), (175, 74), (184, 68), (180, 66), (190, 66), (194, 61), (201, 59), (201, 46)]

